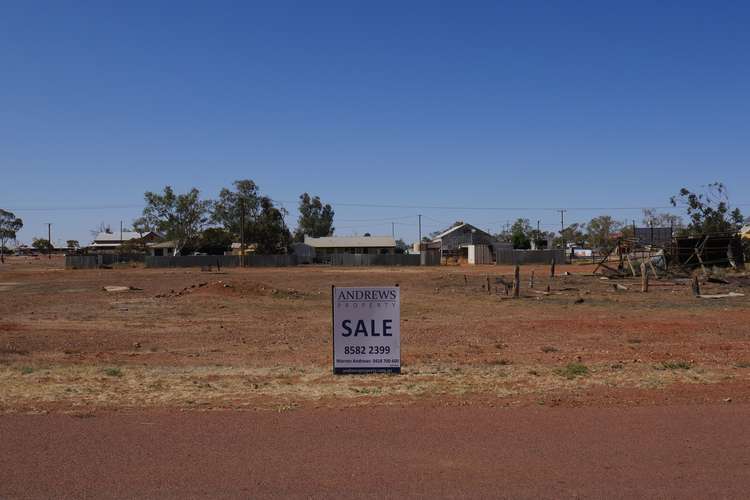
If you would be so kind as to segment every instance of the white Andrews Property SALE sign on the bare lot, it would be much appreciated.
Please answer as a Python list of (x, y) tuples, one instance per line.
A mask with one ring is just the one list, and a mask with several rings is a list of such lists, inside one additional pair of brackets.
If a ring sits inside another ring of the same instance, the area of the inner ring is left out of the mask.
[(333, 372), (401, 373), (397, 286), (332, 287)]

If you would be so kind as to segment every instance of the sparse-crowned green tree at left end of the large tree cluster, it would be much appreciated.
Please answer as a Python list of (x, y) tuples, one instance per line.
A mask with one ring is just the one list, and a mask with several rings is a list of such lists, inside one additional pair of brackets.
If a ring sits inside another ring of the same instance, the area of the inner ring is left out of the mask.
[(171, 186), (166, 186), (162, 194), (147, 191), (144, 198), (144, 222), (175, 242), (175, 255), (195, 244), (211, 206), (210, 201), (200, 199), (200, 191), (193, 188), (185, 194), (175, 194)]

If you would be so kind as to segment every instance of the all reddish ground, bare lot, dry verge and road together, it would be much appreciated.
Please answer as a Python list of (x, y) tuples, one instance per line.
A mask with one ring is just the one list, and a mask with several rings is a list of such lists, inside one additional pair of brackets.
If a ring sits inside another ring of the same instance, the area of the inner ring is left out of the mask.
[[(13, 259), (0, 497), (746, 497), (747, 278), (558, 272)], [(333, 376), (331, 284), (394, 283), (403, 375)]]

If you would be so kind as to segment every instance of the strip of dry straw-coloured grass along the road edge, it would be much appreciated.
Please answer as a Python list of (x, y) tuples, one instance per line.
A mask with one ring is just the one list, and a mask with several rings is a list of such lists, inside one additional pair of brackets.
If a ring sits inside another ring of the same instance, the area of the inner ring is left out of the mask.
[[(583, 368), (581, 368), (583, 367)], [(572, 363), (546, 365), (422, 365), (402, 375), (335, 376), (317, 366), (289, 368), (139, 367), (53, 365), (0, 368), (0, 409), (56, 408), (282, 408), (305, 402), (480, 395), (554, 395), (575, 387), (663, 388), (750, 380), (733, 367), (657, 370), (644, 364), (612, 368)], [(584, 370), (585, 368), (585, 370)], [(112, 370), (117, 370), (116, 372)], [(563, 375), (561, 377), (561, 375)], [(585, 376), (584, 376), (585, 375)], [(291, 409), (291, 408), (287, 408)]]

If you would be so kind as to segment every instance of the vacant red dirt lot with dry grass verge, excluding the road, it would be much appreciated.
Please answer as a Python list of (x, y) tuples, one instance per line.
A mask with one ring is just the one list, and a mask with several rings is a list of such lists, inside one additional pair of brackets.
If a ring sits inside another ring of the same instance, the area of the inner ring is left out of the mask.
[[(0, 412), (750, 401), (750, 294), (700, 300), (669, 279), (615, 291), (591, 270), (528, 266), (512, 299), (502, 266), (73, 271), (14, 258), (0, 266)], [(730, 281), (704, 291), (750, 291)], [(332, 375), (331, 285), (395, 283), (404, 373)]]

